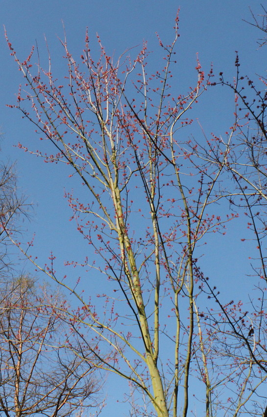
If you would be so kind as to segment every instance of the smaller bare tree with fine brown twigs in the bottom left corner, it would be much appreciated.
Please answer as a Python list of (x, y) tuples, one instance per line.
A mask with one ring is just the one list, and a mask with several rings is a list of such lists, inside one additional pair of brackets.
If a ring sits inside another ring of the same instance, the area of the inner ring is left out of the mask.
[(0, 299), (1, 415), (88, 415), (99, 386), (89, 356), (68, 349), (66, 300), (25, 276), (1, 288)]

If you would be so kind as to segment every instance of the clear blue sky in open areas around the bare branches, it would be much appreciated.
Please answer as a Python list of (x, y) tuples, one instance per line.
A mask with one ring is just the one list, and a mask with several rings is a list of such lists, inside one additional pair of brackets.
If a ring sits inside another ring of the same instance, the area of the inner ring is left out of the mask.
[[(1, 159), (17, 160), (19, 186), (28, 196), (28, 201), (33, 202), (35, 212), (31, 223), (26, 226), (26, 235), (36, 233), (35, 250), (42, 261), (47, 259), (50, 250), (61, 261), (75, 258), (75, 253), (85, 253), (85, 250), (80, 247), (82, 242), (79, 236), (73, 232), (74, 225), (68, 222), (71, 213), (63, 199), (66, 184), (64, 169), (44, 164), (40, 158), (14, 147), (21, 142), (30, 148), (36, 135), (33, 126), (21, 119), (19, 111), (5, 106), (15, 103), (18, 86), (23, 79), (10, 57), (3, 25), (21, 59), (37, 43), (45, 62), (46, 36), (57, 75), (60, 75), (63, 62), (59, 58), (63, 51), (58, 40), (58, 37), (64, 36), (63, 24), (69, 49), (75, 56), (82, 53), (88, 26), (93, 45), (96, 45), (95, 36), (98, 33), (106, 50), (117, 57), (126, 49), (141, 46), (143, 40), (147, 40), (148, 50), (154, 52), (151, 55), (153, 66), (159, 59), (157, 54), (161, 53), (155, 32), (165, 42), (171, 42), (175, 14), (180, 7), (178, 66), (174, 81), (177, 89), (185, 91), (188, 86), (194, 85), (196, 53), (206, 72), (213, 63), (215, 74), (223, 71), (225, 78), (235, 76), (235, 51), (240, 54), (244, 74), (253, 76), (263, 72), (266, 51), (257, 50), (256, 43), (260, 34), (243, 21), (251, 21), (249, 5), (255, 14), (260, 12), (260, 1), (255, 0), (0, 0), (0, 126), (4, 133)], [(234, 107), (228, 93), (222, 89), (220, 99), (217, 92), (210, 91), (194, 110), (195, 117), (207, 134), (211, 131), (223, 133), (231, 123)], [(192, 129), (194, 134), (200, 134), (196, 125)], [(218, 263), (233, 250), (236, 238), (235, 231), (230, 232), (221, 253), (216, 254), (215, 250)], [(226, 269), (223, 272), (216, 271), (218, 279), (227, 274), (227, 268), (229, 274), (230, 270), (231, 273), (233, 270), (245, 273), (238, 262), (224, 266)], [(207, 270), (207, 274), (212, 274), (215, 267), (209, 270), (207, 265)], [(109, 410), (103, 415), (108, 416)]]

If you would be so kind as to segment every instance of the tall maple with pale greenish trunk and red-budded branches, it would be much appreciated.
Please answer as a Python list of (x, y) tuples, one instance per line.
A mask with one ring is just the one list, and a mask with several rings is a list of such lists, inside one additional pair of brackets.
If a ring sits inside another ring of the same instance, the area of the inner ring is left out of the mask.
[[(170, 68), (178, 16), (174, 33), (170, 45), (159, 38), (164, 66), (151, 75), (146, 44), (133, 61), (127, 52), (115, 61), (97, 38), (100, 54), (94, 60), (87, 34), (78, 64), (65, 39), (68, 74), (61, 82), (53, 78), (50, 56), (48, 71), (34, 67), (33, 50), (20, 61), (9, 43), (26, 82), (26, 92), (20, 89), (11, 107), (41, 135), (40, 150), (19, 147), (45, 162), (67, 164), (70, 177), (83, 186), (78, 197), (66, 193), (72, 220), (88, 243), (85, 260), (67, 262), (84, 269), (83, 294), (55, 272), (53, 255), (45, 268), (29, 259), (80, 303), (75, 312), (65, 311), (80, 337), (70, 345), (72, 352), (79, 358), (92, 352), (101, 369), (144, 395), (142, 406), (139, 399), (133, 403), (133, 415), (185, 417), (195, 397), (205, 404), (207, 417), (262, 415), (266, 80), (261, 78), (261, 91), (247, 80), (256, 95), (250, 102), (240, 86), (245, 78), (238, 56), (234, 84), (223, 74), (216, 82), (212, 70), (205, 76), (197, 61), (195, 86), (175, 95)], [(185, 140), (192, 107), (215, 84), (234, 92), (229, 132), (206, 143)], [(225, 303), (199, 262), (209, 234), (219, 239), (242, 210), (260, 253), (253, 268), (262, 296), (251, 302), (250, 312), (241, 301)], [(95, 295), (86, 276), (99, 280)]]

